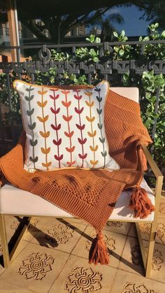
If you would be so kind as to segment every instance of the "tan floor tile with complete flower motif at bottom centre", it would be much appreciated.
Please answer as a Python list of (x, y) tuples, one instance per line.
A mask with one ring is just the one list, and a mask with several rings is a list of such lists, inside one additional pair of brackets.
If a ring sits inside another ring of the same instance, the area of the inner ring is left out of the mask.
[(110, 266), (90, 265), (86, 259), (71, 255), (49, 293), (109, 293), (116, 271)]

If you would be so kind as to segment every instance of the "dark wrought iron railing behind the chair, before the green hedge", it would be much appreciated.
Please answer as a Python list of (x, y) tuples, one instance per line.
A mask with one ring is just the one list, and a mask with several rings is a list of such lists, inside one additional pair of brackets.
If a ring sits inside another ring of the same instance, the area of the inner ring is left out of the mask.
[[(25, 74), (31, 79), (31, 83), (35, 83), (36, 71), (47, 72), (50, 68), (56, 69), (56, 80), (55, 83), (62, 82), (62, 76), (67, 71), (68, 73), (74, 74), (85, 74), (87, 76), (87, 82), (92, 83), (92, 77), (99, 73), (99, 76), (103, 79), (110, 80), (112, 86), (122, 85), (122, 76), (127, 72), (134, 72), (134, 75), (141, 76), (143, 71), (153, 70), (155, 74), (165, 73), (165, 60), (163, 59), (148, 59), (145, 56), (146, 45), (157, 45), (164, 44), (164, 40), (159, 41), (127, 41), (122, 43), (78, 43), (78, 44), (64, 44), (64, 45), (21, 45), (20, 47), (6, 47), (5, 50), (16, 50), (17, 62), (0, 62), (1, 72), (6, 73), (6, 101), (8, 101), (8, 109), (10, 112), (13, 110), (11, 103), (12, 94), (11, 91), (11, 80), (12, 73), (15, 73), (17, 78), (22, 79)], [(126, 60), (114, 60), (113, 59), (113, 48), (118, 45), (131, 45), (132, 50), (138, 48), (140, 51), (140, 58), (138, 59), (126, 59)], [(76, 57), (77, 48), (97, 48), (99, 50), (100, 62), (87, 62), (87, 60), (78, 60)], [(0, 52), (4, 48), (0, 47)], [(62, 52), (69, 52), (71, 60), (68, 61), (54, 61), (52, 60), (51, 50), (59, 50)], [(35, 60), (21, 62), (20, 56), (24, 51), (37, 52)], [(107, 54), (108, 52), (108, 54)], [(115, 78), (114, 78), (115, 76)], [(133, 86), (133, 85), (132, 85)], [(0, 85), (3, 90), (2, 85)], [(141, 90), (141, 89), (140, 89)], [(141, 98), (141, 97), (140, 97)], [(157, 99), (155, 101), (155, 113), (157, 113), (159, 106), (159, 87), (157, 89)], [(15, 128), (13, 124), (8, 129), (10, 134), (6, 134), (6, 126), (3, 122), (3, 105), (0, 100), (0, 143), (3, 145), (5, 141), (13, 141), (15, 143)], [(153, 124), (152, 138), (155, 137), (155, 131), (157, 128), (157, 118)]]

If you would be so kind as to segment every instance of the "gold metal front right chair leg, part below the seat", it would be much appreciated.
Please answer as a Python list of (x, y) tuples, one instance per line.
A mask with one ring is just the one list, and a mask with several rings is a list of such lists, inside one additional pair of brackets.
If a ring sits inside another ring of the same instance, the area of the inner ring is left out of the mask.
[(150, 240), (149, 240), (149, 245), (148, 245), (148, 256), (147, 256), (147, 262), (145, 266), (145, 277), (149, 278), (150, 277), (150, 271), (152, 268), (152, 257), (154, 253), (154, 246), (155, 246), (155, 238), (156, 238), (156, 229), (157, 226), (155, 222), (151, 223), (151, 228), (150, 228)]

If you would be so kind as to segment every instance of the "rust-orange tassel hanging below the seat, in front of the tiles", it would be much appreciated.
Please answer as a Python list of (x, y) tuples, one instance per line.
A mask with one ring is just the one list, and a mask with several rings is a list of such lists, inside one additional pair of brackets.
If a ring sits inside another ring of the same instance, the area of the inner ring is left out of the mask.
[(94, 238), (89, 250), (89, 264), (98, 264), (99, 262), (109, 264), (108, 251), (101, 231), (96, 234), (96, 238)]

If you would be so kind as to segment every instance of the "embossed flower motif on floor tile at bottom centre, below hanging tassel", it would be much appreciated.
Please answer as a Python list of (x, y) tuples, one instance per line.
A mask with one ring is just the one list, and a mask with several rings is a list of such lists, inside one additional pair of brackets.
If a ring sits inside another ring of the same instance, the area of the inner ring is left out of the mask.
[(69, 293), (77, 293), (79, 290), (82, 293), (91, 293), (101, 289), (101, 273), (80, 266), (76, 266), (72, 272), (69, 273), (65, 287)]

